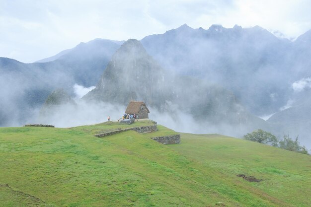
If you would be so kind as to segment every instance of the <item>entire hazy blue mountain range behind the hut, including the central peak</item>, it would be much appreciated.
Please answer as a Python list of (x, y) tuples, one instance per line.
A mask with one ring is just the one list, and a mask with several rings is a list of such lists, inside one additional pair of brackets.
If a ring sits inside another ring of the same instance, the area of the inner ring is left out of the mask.
[(124, 106), (141, 99), (174, 119), (193, 116), (206, 126), (266, 126), (254, 115), (278, 112), (295, 97), (292, 84), (311, 76), (309, 37), (307, 32), (291, 42), (259, 26), (185, 24), (143, 38), (135, 50), (129, 47), (141, 57), (136, 59), (119, 51), (122, 41), (105, 39), (81, 43), (46, 63), (0, 58), (0, 126), (24, 124), (53, 90), (62, 87), (73, 96), (75, 84), (97, 85), (85, 100)]

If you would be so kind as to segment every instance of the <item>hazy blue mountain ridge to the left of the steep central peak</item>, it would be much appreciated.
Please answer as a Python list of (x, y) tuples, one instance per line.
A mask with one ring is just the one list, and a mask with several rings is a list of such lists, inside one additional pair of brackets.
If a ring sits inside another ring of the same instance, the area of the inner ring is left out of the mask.
[(95, 85), (119, 44), (96, 39), (47, 63), (24, 64), (0, 58), (0, 126), (20, 126), (32, 120), (56, 88), (72, 95), (75, 84)]

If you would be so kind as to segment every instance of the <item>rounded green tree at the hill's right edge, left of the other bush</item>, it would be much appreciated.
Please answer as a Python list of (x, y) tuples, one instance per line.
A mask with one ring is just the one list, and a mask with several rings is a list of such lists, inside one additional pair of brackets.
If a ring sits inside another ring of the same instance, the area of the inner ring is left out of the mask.
[(247, 135), (244, 135), (243, 138), (246, 140), (256, 141), (256, 142), (263, 143), (263, 144), (270, 142), (273, 146), (276, 146), (278, 143), (278, 139), (274, 135), (272, 135), (269, 132), (260, 130), (260, 129), (255, 130), (254, 132), (250, 134), (247, 133)]

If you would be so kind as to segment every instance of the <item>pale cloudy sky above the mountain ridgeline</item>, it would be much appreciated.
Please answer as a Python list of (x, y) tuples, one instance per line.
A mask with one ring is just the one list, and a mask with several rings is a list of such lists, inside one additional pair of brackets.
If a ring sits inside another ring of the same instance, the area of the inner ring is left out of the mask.
[(310, 0), (0, 0), (0, 57), (31, 63), (95, 38), (142, 39), (186, 23), (311, 29)]

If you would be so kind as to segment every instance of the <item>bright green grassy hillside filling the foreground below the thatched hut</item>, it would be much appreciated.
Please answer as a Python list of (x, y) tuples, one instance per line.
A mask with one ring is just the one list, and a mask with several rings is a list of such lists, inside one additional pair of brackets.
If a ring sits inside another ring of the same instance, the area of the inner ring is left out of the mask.
[(119, 127), (0, 128), (0, 207), (311, 206), (309, 155), (220, 135), (162, 145), (162, 126), (93, 136)]

